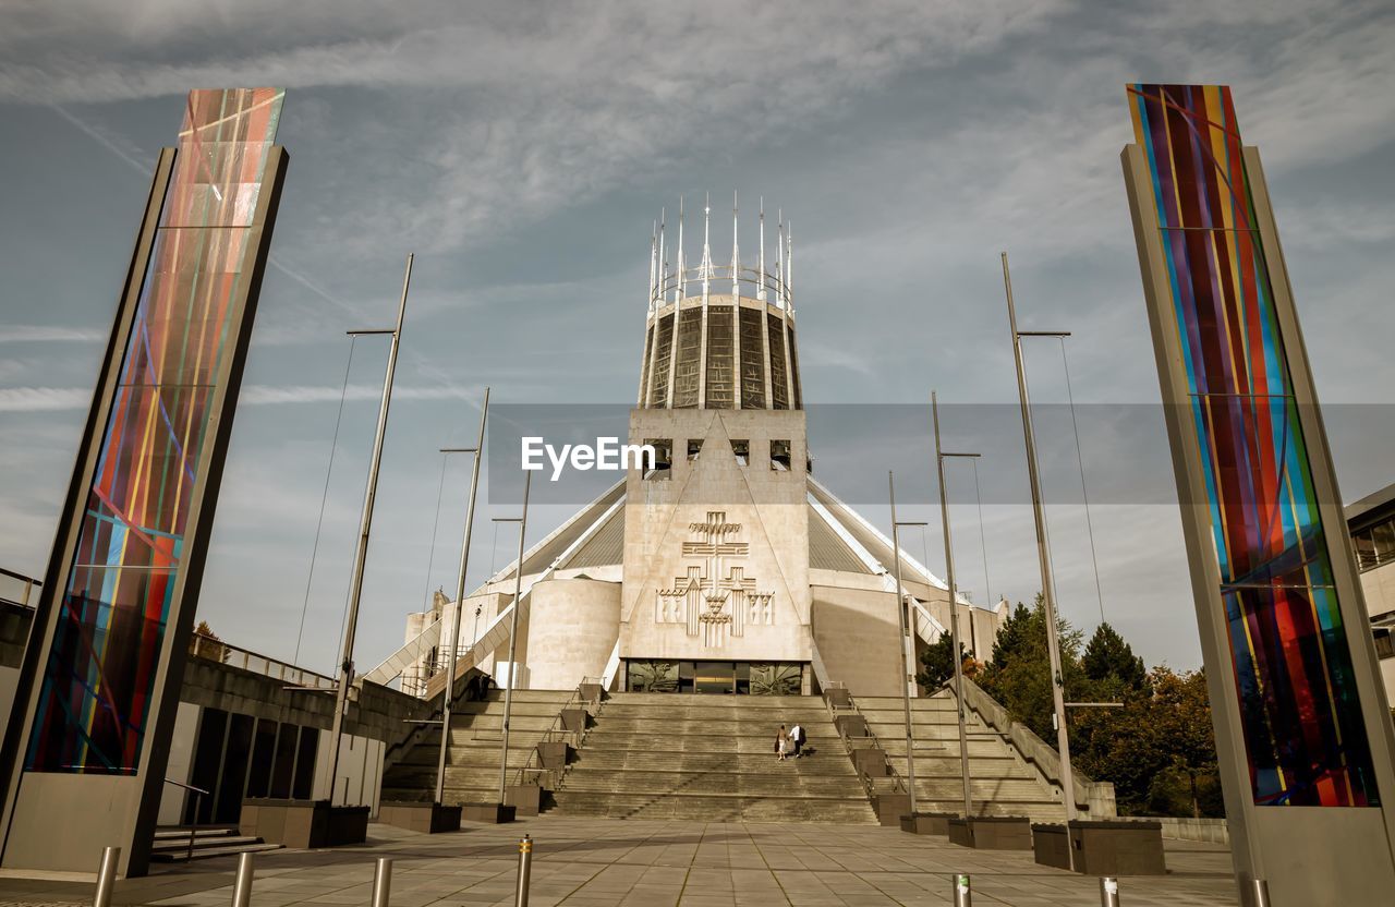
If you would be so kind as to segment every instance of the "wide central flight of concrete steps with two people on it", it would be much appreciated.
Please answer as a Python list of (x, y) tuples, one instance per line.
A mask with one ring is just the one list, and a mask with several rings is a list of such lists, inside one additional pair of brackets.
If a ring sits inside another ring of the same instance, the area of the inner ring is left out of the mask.
[[(795, 723), (806, 755), (778, 762)], [(554, 795), (565, 816), (876, 823), (815, 696), (612, 694)]]

